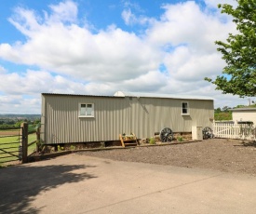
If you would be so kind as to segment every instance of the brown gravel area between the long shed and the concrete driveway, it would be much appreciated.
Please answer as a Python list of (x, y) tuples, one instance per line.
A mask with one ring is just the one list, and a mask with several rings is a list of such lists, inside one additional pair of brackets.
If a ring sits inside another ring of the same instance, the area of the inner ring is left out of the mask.
[(256, 176), (256, 142), (210, 139), (166, 146), (83, 152), (117, 161), (199, 167)]

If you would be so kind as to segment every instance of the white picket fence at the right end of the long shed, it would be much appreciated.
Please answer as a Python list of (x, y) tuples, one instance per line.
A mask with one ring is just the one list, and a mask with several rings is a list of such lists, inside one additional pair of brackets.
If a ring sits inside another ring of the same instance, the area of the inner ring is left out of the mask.
[(213, 123), (214, 138), (256, 140), (256, 128), (252, 125)]

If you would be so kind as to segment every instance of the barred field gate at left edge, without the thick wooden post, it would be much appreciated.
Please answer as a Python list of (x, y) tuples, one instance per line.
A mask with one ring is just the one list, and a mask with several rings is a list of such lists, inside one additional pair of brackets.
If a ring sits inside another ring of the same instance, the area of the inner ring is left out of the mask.
[(0, 165), (22, 159), (22, 128), (0, 128)]

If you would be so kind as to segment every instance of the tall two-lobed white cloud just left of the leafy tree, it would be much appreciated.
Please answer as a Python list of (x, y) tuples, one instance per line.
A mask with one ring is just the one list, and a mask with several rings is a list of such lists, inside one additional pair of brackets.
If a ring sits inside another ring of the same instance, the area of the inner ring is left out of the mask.
[(161, 20), (147, 34), (150, 43), (167, 49), (163, 61), (170, 76), (189, 88), (206, 76), (221, 74), (224, 61), (214, 42), (235, 32), (235, 24), (222, 22), (218, 12), (205, 13), (192, 1), (164, 8)]

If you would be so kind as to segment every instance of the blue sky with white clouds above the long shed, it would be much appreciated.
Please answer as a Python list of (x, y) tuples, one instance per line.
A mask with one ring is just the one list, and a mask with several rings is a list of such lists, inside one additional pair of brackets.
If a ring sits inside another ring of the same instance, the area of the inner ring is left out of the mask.
[(236, 33), (235, 0), (0, 1), (0, 114), (41, 114), (41, 93), (115, 91), (249, 104), (204, 77), (222, 74), (214, 44)]

